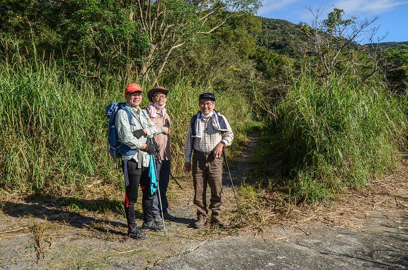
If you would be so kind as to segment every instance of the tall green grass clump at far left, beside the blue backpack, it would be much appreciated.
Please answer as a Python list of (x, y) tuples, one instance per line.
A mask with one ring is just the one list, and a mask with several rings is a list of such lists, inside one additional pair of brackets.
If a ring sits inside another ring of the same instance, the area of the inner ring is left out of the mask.
[(42, 188), (89, 181), (104, 149), (97, 98), (85, 80), (73, 85), (54, 61), (31, 53), (0, 62), (2, 182)]

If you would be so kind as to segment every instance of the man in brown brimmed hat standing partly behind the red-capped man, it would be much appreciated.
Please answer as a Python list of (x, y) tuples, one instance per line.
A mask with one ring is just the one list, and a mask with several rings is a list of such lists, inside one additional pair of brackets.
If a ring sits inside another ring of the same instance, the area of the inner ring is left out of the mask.
[(146, 114), (156, 124), (159, 129), (158, 134), (154, 137), (160, 147), (157, 156), (157, 175), (159, 177), (160, 199), (162, 208), (159, 203), (159, 193), (153, 198), (153, 219), (161, 224), (161, 212), (166, 220), (174, 221), (174, 217), (168, 212), (167, 187), (170, 178), (170, 117), (166, 110), (166, 101), (168, 90), (162, 86), (156, 86), (147, 92), (147, 98), (151, 104), (146, 108)]

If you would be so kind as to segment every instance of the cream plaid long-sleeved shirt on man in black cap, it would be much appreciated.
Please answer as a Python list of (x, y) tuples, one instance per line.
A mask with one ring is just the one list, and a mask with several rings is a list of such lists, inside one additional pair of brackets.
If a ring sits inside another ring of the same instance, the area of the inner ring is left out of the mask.
[[(187, 163), (191, 162), (191, 153), (193, 152), (193, 148), (201, 152), (211, 152), (214, 150), (215, 146), (219, 144), (221, 141), (225, 143), (225, 146), (231, 145), (231, 143), (233, 142), (234, 133), (233, 130), (231, 129), (230, 123), (226, 121), (228, 131), (222, 132), (214, 129), (211, 122), (211, 117), (212, 116), (210, 116), (209, 118), (201, 117), (199, 119), (202, 128), (202, 137), (194, 139), (193, 147), (192, 147), (193, 138), (191, 138), (191, 125), (189, 125), (187, 132), (186, 148), (184, 150)], [(198, 119), (196, 121), (198, 121)]]

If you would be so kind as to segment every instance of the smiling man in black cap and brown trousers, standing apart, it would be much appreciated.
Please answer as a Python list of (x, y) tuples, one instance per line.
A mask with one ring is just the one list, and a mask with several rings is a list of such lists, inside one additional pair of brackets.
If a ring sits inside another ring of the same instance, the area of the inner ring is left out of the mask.
[[(222, 151), (234, 140), (234, 133), (226, 118), (214, 110), (213, 93), (199, 96), (200, 111), (191, 118), (185, 148), (186, 170), (192, 170), (194, 186), (194, 205), (197, 208), (197, 221), (194, 228), (201, 228), (207, 221), (207, 183), (211, 189), (209, 209), (211, 223), (225, 228), (221, 219), (222, 195)], [(194, 152), (193, 160), (191, 154)]]

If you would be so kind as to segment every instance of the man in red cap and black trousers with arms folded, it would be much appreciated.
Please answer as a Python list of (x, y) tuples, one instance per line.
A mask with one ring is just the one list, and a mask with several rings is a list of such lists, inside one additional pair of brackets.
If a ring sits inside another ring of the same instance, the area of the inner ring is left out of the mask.
[[(147, 138), (156, 135), (156, 125), (145, 116), (139, 105), (142, 102), (142, 89), (138, 84), (130, 84), (124, 91), (126, 105), (119, 110), (116, 119), (118, 138), (127, 150), (122, 155), (122, 169), (125, 182), (124, 210), (127, 220), (127, 235), (135, 239), (145, 239), (148, 236), (143, 231), (163, 231), (153, 220), (152, 204), (153, 195), (150, 190), (149, 163), (150, 152), (154, 152), (155, 146)], [(127, 110), (132, 115), (130, 123)], [(142, 188), (143, 226), (140, 229), (136, 225), (135, 203), (137, 201), (138, 188)], [(142, 231), (143, 230), (143, 231)]]

